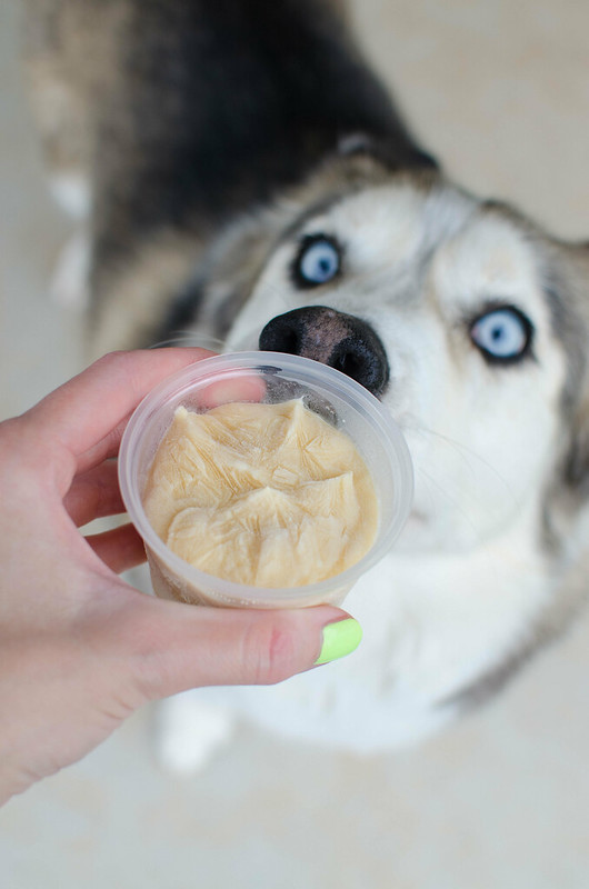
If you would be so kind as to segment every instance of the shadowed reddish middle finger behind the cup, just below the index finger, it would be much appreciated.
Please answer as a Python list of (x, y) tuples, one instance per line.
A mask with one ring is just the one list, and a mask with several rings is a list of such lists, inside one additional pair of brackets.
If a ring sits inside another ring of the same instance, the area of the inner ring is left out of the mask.
[(63, 498), (63, 506), (78, 528), (93, 519), (124, 512), (117, 461), (106, 460), (88, 472), (77, 476)]

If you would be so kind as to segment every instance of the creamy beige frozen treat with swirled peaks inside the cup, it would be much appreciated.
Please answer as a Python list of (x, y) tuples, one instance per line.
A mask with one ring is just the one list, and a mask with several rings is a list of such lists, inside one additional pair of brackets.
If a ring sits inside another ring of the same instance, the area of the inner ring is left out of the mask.
[(143, 508), (174, 553), (210, 575), (298, 587), (370, 549), (378, 501), (351, 439), (306, 408), (178, 408), (151, 466)]

